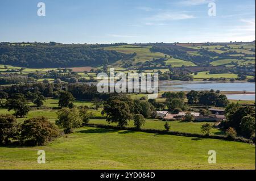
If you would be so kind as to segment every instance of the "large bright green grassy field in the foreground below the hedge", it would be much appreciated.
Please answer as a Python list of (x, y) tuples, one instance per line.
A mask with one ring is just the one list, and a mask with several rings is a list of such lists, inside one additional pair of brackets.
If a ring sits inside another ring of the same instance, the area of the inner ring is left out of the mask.
[[(46, 164), (37, 163), (38, 150), (46, 151)], [(208, 164), (209, 150), (216, 150), (217, 164)], [(0, 147), (0, 165), (1, 169), (255, 169), (255, 146), (85, 127), (47, 146)]]

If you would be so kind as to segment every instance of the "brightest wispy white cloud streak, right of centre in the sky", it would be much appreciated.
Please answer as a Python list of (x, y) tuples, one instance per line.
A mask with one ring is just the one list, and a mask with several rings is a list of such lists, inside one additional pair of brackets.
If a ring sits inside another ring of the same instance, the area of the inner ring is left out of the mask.
[(147, 20), (164, 22), (164, 21), (183, 20), (183, 19), (192, 19), (192, 18), (195, 18), (195, 16), (185, 14), (185, 13), (160, 12), (159, 14), (156, 14), (156, 15), (151, 16), (150, 18), (147, 18)]

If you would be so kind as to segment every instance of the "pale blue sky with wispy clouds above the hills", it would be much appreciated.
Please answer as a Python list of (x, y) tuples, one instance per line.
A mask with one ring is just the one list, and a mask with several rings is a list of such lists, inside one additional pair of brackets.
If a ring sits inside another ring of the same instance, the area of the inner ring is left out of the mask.
[[(46, 4), (38, 16), (37, 4)], [(216, 3), (216, 16), (208, 3)], [(255, 0), (1, 0), (0, 41), (60, 43), (255, 40)]]

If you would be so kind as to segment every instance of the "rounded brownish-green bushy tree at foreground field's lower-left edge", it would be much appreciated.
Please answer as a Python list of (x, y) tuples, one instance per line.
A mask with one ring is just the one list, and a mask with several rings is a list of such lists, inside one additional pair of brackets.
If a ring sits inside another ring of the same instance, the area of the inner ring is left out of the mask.
[(19, 140), (22, 145), (40, 146), (57, 136), (59, 131), (55, 124), (49, 122), (46, 117), (36, 117), (24, 121)]

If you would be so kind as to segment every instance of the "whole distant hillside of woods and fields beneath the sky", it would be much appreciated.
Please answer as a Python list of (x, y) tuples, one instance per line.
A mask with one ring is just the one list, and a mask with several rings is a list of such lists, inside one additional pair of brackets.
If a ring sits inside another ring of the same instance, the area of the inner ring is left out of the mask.
[(59, 44), (0, 43), (0, 65), (26, 68), (166, 69), (224, 66), (255, 69), (255, 42)]

